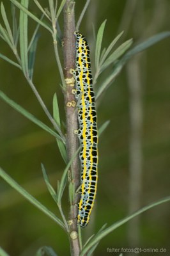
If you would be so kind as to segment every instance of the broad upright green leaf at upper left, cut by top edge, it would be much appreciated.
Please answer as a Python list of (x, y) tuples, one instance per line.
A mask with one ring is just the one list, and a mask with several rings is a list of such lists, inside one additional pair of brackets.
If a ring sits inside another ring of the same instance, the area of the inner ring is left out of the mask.
[[(27, 9), (29, 1), (21, 0), (21, 4)], [(19, 35), (20, 35), (20, 60), (22, 70), (26, 77), (29, 77), (28, 72), (28, 60), (27, 60), (27, 14), (20, 10), (20, 21), (19, 21)]]

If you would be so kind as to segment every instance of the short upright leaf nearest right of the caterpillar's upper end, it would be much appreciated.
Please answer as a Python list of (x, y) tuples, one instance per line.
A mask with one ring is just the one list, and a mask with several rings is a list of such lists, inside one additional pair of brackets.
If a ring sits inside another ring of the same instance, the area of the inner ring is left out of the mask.
[(96, 47), (95, 47), (95, 67), (96, 67), (96, 69), (98, 69), (99, 60), (100, 60), (100, 51), (101, 51), (101, 47), (102, 47), (105, 22), (106, 22), (106, 20), (104, 20), (104, 22), (98, 29), (98, 33), (97, 33), (97, 42), (96, 42)]

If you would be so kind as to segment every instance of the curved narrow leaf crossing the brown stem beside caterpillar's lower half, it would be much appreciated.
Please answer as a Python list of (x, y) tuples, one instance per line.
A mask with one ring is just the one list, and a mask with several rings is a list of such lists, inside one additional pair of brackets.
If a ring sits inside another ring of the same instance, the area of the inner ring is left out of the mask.
[(77, 149), (77, 151), (75, 152), (75, 154), (73, 154), (72, 158), (70, 159), (70, 161), (68, 162), (64, 172), (63, 172), (63, 175), (61, 177), (61, 181), (59, 182), (59, 189), (58, 189), (58, 204), (61, 205), (61, 198), (63, 196), (63, 192), (65, 190), (65, 186), (66, 186), (66, 180), (67, 180), (67, 173), (68, 173), (68, 170), (73, 162), (73, 159), (75, 159), (75, 157), (77, 156), (79, 150), (80, 150), (81, 147), (79, 147)]

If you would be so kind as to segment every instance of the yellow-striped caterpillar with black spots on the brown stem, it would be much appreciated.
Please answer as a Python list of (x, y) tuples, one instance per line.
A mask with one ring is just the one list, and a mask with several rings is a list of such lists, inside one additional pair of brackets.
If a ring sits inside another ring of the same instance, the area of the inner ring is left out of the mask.
[(88, 42), (81, 33), (75, 32), (75, 37), (76, 59), (72, 74), (75, 79), (75, 99), (78, 102), (78, 137), (81, 144), (81, 199), (78, 204), (77, 222), (81, 227), (85, 227), (89, 222), (97, 193), (97, 114)]

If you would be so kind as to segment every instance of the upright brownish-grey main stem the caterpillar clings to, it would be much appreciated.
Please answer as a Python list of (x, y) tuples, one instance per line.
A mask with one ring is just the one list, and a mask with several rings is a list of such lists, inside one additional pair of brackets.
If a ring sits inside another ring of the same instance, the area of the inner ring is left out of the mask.
[[(68, 160), (71, 159), (79, 147), (79, 142), (75, 130), (78, 129), (77, 109), (75, 109), (75, 97), (72, 93), (74, 86), (73, 77), (70, 74), (70, 68), (75, 68), (75, 19), (74, 19), (74, 2), (66, 0), (64, 8), (64, 38), (63, 38), (63, 54), (64, 54), (64, 76), (66, 81), (65, 88), (65, 111), (66, 111), (66, 150)], [(72, 166), (71, 182), (73, 183), (73, 200), (70, 205), (69, 213), (69, 233), (70, 233), (70, 250), (72, 256), (79, 256), (80, 245), (77, 232), (77, 202), (79, 195), (74, 194), (80, 186), (79, 175), (79, 157), (75, 157)], [(72, 236), (74, 234), (74, 236)]]

